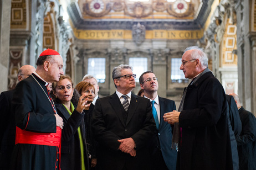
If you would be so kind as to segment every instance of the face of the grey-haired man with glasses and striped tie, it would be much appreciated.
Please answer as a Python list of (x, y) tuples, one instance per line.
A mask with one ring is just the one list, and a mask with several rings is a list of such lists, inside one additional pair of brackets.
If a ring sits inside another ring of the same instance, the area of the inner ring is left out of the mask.
[[(124, 75), (132, 75), (132, 70), (131, 69), (124, 69), (121, 71), (121, 76)], [(131, 78), (125, 78), (125, 77), (120, 77), (117, 81), (118, 84), (116, 84), (117, 88), (120, 89), (134, 89), (135, 88), (135, 78), (131, 76)]]

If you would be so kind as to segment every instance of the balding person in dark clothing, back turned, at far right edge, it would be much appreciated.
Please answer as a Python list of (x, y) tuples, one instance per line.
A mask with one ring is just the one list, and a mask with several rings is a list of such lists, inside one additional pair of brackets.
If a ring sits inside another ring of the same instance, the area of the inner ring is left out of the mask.
[(242, 107), (237, 94), (234, 97), (239, 116), (242, 122), (242, 132), (237, 138), (237, 150), (239, 155), (239, 169), (256, 169), (256, 119), (253, 113)]

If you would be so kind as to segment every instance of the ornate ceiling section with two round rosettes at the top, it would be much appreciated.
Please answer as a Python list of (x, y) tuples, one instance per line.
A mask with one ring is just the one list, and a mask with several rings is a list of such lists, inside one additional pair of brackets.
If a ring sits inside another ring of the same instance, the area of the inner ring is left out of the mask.
[(85, 3), (79, 1), (78, 4), (78, 6), (81, 6), (78, 8), (81, 10), (83, 18), (86, 18), (86, 15), (96, 18), (104, 17), (105, 15), (108, 15), (111, 10), (114, 12), (124, 12), (124, 14), (134, 18), (149, 17), (153, 14), (154, 10), (156, 12), (166, 11), (167, 15), (172, 15), (177, 18), (188, 17), (190, 15), (193, 17), (192, 15), (194, 14), (193, 4), (183, 0), (177, 0), (176, 2), (168, 2), (166, 0), (149, 2), (88, 0), (85, 1)]

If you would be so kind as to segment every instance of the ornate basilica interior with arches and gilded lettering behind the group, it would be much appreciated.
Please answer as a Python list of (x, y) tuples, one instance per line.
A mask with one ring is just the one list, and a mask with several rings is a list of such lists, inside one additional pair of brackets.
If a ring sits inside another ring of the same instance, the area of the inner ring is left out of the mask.
[(256, 111), (255, 0), (0, 0), (0, 15), (0, 92), (49, 48), (75, 83), (97, 78), (100, 97), (115, 92), (112, 69), (129, 64), (133, 93), (141, 73), (153, 71), (158, 95), (178, 107), (190, 81), (180, 70), (183, 51), (199, 46), (226, 94)]

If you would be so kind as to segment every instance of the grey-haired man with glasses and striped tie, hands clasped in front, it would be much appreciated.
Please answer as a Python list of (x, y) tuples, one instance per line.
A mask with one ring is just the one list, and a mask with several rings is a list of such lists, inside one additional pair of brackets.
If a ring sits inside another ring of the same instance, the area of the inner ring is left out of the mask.
[(156, 129), (149, 99), (131, 93), (136, 75), (129, 65), (114, 68), (116, 92), (96, 101), (93, 131), (99, 169), (149, 169), (147, 141)]

